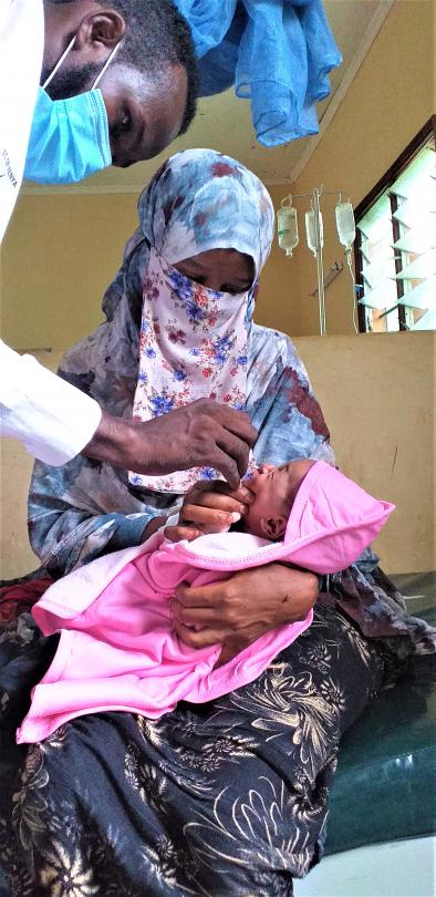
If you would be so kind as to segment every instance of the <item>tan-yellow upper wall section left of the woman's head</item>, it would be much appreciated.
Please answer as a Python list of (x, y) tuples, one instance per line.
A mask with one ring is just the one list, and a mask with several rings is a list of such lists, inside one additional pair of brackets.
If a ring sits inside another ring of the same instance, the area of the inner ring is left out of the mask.
[(3, 339), (43, 349), (89, 333), (135, 227), (134, 194), (20, 196), (2, 247)]

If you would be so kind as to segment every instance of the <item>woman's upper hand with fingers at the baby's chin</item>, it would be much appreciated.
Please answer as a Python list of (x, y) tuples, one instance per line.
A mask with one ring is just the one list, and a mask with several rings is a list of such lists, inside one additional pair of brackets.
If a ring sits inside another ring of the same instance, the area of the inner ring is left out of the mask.
[(251, 492), (243, 484), (232, 491), (221, 480), (196, 483), (185, 495), (178, 525), (167, 526), (165, 535), (170, 542), (190, 542), (206, 533), (226, 533), (243, 517), (252, 501)]

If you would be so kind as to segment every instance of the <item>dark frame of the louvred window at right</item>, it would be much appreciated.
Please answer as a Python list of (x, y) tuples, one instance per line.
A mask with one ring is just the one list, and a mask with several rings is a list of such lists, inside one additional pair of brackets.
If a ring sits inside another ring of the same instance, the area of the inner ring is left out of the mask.
[[(398, 158), (391, 165), (387, 172), (377, 181), (375, 186), (370, 190), (370, 193), (362, 199), (361, 203), (354, 209), (354, 218), (356, 224), (356, 239), (354, 243), (354, 270), (355, 270), (355, 280), (356, 285), (362, 285), (362, 274), (363, 274), (363, 257), (362, 257), (362, 234), (359, 230), (359, 221), (363, 218), (364, 215), (368, 212), (368, 209), (374, 205), (374, 203), (380, 199), (383, 193), (385, 193), (395, 181), (399, 177), (401, 174), (407, 168), (407, 165), (413, 162), (414, 157), (417, 155), (419, 150), (425, 146), (429, 137), (434, 137), (435, 145), (436, 145), (436, 115), (432, 115), (430, 118), (423, 125), (423, 127), (418, 131), (415, 137), (407, 144), (405, 150), (399, 154)], [(391, 212), (394, 213), (396, 210), (397, 200), (394, 195), (390, 196), (391, 203)], [(397, 236), (395, 236), (397, 233)], [(393, 218), (393, 236), (394, 241), (395, 239), (399, 238), (399, 225), (398, 221)], [(398, 258), (395, 258), (395, 270), (398, 274), (402, 269), (402, 262)], [(401, 278), (396, 281), (396, 289), (398, 299), (402, 298), (404, 295), (404, 285)], [(359, 332), (360, 333), (370, 333), (371, 331), (366, 329), (366, 309), (360, 302), (357, 305), (357, 323), (359, 323)], [(406, 323), (406, 309), (403, 305), (398, 306), (398, 323), (399, 323), (399, 331), (407, 330)]]

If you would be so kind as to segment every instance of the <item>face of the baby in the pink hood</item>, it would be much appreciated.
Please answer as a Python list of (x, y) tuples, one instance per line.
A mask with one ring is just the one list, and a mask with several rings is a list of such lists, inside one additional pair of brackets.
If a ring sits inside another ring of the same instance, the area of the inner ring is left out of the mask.
[(246, 483), (255, 501), (248, 506), (243, 529), (263, 538), (280, 538), (288, 523), (293, 498), (313, 463), (308, 460), (289, 461), (280, 467), (261, 464)]

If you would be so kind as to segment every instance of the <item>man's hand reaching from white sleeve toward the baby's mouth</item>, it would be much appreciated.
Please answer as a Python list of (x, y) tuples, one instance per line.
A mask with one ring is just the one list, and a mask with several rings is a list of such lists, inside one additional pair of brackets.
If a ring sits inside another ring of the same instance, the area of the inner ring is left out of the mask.
[(236, 489), (247, 471), (256, 436), (245, 412), (197, 399), (144, 423), (112, 417), (103, 411), (83, 454), (152, 476), (207, 465), (216, 467)]

